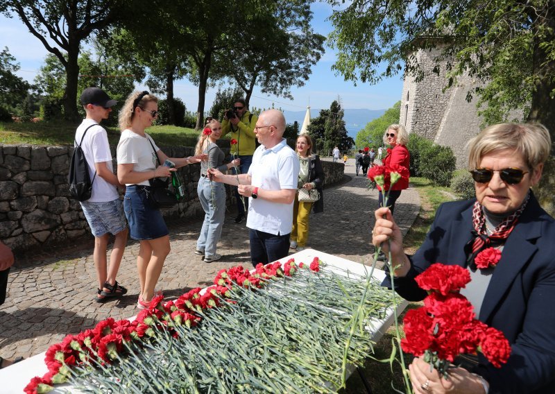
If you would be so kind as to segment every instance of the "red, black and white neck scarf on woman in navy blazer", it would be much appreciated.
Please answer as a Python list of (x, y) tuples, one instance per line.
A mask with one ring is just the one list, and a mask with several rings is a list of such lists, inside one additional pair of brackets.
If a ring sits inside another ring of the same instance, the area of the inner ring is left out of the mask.
[(471, 231), (472, 239), (470, 239), (465, 246), (465, 252), (468, 256), (466, 259), (467, 264), (474, 262), (476, 255), (482, 250), (505, 243), (506, 239), (509, 238), (509, 234), (511, 234), (515, 228), (520, 214), (526, 209), (529, 199), (530, 193), (524, 198), (522, 205), (499, 223), (490, 235), (488, 235), (486, 231), (486, 216), (484, 215), (484, 209), (478, 201), (474, 203), (474, 207), (472, 208), (472, 225), (474, 226), (474, 229)]

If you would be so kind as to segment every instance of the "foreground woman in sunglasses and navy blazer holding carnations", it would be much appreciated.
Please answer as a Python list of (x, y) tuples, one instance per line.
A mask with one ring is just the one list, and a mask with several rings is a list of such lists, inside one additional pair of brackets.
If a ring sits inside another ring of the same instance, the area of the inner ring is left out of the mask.
[[(421, 301), (427, 292), (415, 278), (429, 266), (466, 268), (471, 280), (461, 294), (475, 317), (511, 344), (500, 368), (482, 354), (465, 354), (448, 368), (448, 377), (416, 357), (409, 366), (415, 393), (555, 393), (555, 220), (531, 190), (551, 148), (549, 132), (539, 124), (482, 130), (470, 143), (468, 160), (476, 198), (440, 205), (412, 256), (404, 253), (390, 210), (376, 210), (372, 243), (391, 252), (397, 293)], [(389, 275), (383, 285), (391, 288)]]

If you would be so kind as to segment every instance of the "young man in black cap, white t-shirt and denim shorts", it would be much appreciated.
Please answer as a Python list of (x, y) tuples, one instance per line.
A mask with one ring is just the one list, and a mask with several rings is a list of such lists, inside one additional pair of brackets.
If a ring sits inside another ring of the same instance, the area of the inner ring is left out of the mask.
[[(75, 141), (76, 144), (81, 144), (85, 153), (92, 180), (91, 198), (80, 204), (94, 235), (93, 259), (99, 280), (99, 288), (94, 300), (105, 302), (127, 293), (127, 289), (116, 282), (128, 233), (123, 203), (119, 199), (117, 189), (123, 185), (120, 185), (117, 176), (114, 175), (108, 134), (99, 125), (102, 119), (108, 119), (116, 101), (110, 99), (110, 96), (98, 87), (87, 87), (81, 94), (80, 100), (87, 116), (77, 128)], [(107, 271), (106, 252), (110, 233), (114, 234), (115, 239), (110, 255), (110, 268)]]

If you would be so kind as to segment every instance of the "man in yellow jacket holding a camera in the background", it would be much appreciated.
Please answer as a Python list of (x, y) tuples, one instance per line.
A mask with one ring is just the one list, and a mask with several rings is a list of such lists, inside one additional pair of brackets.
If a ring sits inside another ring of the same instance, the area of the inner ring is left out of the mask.
[[(237, 140), (237, 144), (231, 146), (231, 154), (234, 158), (241, 160), (239, 171), (248, 173), (250, 163), (253, 162), (253, 153), (256, 149), (255, 125), (258, 118), (248, 112), (244, 99), (237, 99), (233, 108), (226, 110), (221, 122), (221, 135), (224, 136), (231, 132), (231, 138)], [(248, 209), (248, 199), (244, 199), (235, 191), (237, 198), (237, 217), (235, 223), (241, 223), (245, 219), (245, 212)]]

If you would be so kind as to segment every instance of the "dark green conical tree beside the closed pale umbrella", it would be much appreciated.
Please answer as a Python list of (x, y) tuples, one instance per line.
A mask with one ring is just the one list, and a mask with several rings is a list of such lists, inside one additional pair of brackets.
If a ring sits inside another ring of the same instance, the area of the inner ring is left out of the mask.
[(314, 141), (316, 151), (330, 155), (334, 146), (340, 151), (348, 151), (355, 141), (348, 136), (343, 120), (345, 112), (338, 101), (333, 101), (329, 110), (320, 110), (318, 117), (310, 119), (307, 128)]

